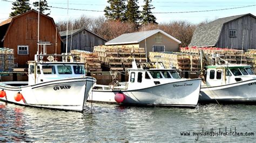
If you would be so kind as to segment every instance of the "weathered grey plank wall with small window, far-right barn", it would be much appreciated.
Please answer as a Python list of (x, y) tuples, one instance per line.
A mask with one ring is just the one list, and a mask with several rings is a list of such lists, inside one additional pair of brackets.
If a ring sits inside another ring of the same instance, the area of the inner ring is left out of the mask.
[[(229, 30), (237, 30), (237, 37), (230, 37)], [(252, 16), (244, 16), (224, 24), (216, 46), (242, 49), (243, 35), (243, 49), (256, 49), (256, 18)]]

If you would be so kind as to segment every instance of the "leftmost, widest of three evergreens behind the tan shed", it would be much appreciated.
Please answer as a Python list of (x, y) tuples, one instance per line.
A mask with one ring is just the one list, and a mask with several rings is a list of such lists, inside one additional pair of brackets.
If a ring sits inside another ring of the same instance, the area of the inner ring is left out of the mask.
[(124, 12), (126, 9), (126, 6), (124, 4), (124, 1), (122, 0), (107, 0), (107, 3), (110, 4), (110, 6), (106, 6), (104, 9), (105, 16), (107, 19), (110, 20), (119, 20), (119, 21), (126, 21)]

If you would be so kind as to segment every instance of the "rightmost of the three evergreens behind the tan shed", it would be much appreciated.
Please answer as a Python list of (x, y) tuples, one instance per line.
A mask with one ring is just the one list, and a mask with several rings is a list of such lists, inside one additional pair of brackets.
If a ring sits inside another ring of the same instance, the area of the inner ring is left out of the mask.
[(147, 24), (147, 23), (155, 23), (156, 22), (156, 17), (152, 15), (151, 10), (154, 9), (153, 5), (150, 4), (149, 0), (145, 0), (145, 5), (143, 5), (143, 11), (142, 11), (142, 24)]

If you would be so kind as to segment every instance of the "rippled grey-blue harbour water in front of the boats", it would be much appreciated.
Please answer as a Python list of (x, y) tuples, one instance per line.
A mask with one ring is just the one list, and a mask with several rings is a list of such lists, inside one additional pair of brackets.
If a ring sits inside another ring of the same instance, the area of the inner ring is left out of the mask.
[[(92, 109), (92, 112), (91, 112)], [(194, 109), (87, 104), (83, 113), (0, 101), (0, 141), (196, 141), (180, 132), (254, 132), (254, 136), (199, 137), (203, 141), (255, 141), (255, 105), (198, 105)]]

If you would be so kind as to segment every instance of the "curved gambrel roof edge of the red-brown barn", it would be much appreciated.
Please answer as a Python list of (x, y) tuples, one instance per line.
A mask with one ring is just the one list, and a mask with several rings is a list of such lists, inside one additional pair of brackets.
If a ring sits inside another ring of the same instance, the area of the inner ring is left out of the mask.
[[(32, 10), (29, 10), (29, 11), (27, 11), (27, 12), (24, 12), (24, 13), (19, 14), (19, 15), (17, 15), (17, 16), (11, 17), (11, 18), (6, 19), (5, 21), (1, 22), (1, 23), (0, 23), (0, 26), (3, 26), (3, 25), (5, 25), (5, 24), (9, 24), (9, 26), (8, 26), (8, 29), (7, 29), (6, 32), (5, 32), (4, 37), (0, 37), (0, 38), (1, 38), (0, 41), (1, 41), (1, 42), (4, 41), (4, 38), (5, 38), (6, 35), (8, 34), (9, 29), (10, 29), (10, 27), (11, 27), (11, 25), (12, 25), (12, 22), (13, 22), (15, 19), (17, 19), (18, 17), (24, 16), (24, 15), (30, 13), (30, 12), (36, 12), (36, 13), (38, 13), (38, 11), (32, 9)], [(53, 24), (53, 25), (55, 26), (55, 28), (56, 28), (56, 24), (55, 24), (55, 22), (54, 22), (54, 20), (53, 20), (52, 17), (46, 16), (46, 15), (44, 15), (43, 13), (40, 13), (40, 15), (41, 15), (41, 16), (44, 16), (44, 17), (46, 17), (46, 18), (51, 19), (52, 24)], [(60, 38), (59, 33), (58, 33), (58, 37), (59, 37), (60, 40), (62, 40), (62, 38)]]

